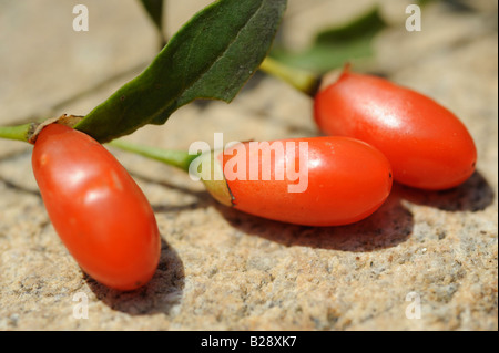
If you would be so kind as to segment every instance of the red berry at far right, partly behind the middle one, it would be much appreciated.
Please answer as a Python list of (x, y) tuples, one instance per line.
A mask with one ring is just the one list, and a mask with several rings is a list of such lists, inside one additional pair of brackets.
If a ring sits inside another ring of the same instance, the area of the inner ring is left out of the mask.
[(314, 110), (324, 133), (383, 152), (401, 184), (447, 189), (475, 172), (477, 150), (465, 125), (429, 97), (387, 80), (345, 71), (316, 95)]

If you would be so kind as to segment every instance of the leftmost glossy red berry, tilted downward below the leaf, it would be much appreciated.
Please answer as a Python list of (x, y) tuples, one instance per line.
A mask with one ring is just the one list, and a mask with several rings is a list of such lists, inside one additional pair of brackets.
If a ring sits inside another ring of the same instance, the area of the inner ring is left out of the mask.
[(161, 250), (153, 210), (101, 144), (52, 124), (38, 136), (32, 166), (52, 225), (83, 271), (119, 290), (152, 278)]

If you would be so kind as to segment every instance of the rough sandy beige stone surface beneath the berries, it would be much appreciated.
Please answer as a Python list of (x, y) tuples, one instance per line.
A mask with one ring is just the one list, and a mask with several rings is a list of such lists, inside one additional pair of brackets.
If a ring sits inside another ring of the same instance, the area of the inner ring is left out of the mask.
[[(83, 115), (154, 56), (156, 33), (135, 1), (80, 1), (85, 33), (72, 30), (73, 2), (0, 2), (0, 124)], [(170, 2), (171, 33), (210, 1)], [(291, 0), (281, 40), (305, 48), (374, 1), (345, 3)], [(497, 330), (497, 2), (430, 4), (410, 33), (410, 2), (378, 3), (390, 27), (369, 70), (462, 120), (479, 153), (467, 183), (441, 193), (396, 185), (364, 221), (299, 227), (228, 209), (182, 172), (111, 149), (153, 205), (163, 241), (153, 280), (121, 293), (82, 273), (60, 242), (31, 146), (0, 141), (0, 330)], [(126, 138), (187, 148), (218, 132), (225, 143), (318, 134), (310, 100), (258, 73), (230, 105), (191, 104)], [(88, 319), (74, 316), (81, 295)]]

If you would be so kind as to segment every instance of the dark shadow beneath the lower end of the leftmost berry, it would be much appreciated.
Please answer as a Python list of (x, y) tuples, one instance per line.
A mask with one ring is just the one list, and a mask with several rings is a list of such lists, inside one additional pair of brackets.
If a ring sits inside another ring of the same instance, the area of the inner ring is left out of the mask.
[(123, 292), (100, 284), (88, 274), (85, 281), (95, 297), (113, 310), (131, 315), (169, 314), (182, 299), (185, 274), (179, 255), (162, 239), (160, 264), (146, 285)]

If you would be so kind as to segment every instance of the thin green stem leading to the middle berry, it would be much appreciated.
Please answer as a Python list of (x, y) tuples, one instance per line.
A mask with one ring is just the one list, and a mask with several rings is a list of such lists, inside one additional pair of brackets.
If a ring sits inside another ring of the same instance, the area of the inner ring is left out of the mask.
[(160, 149), (155, 147), (132, 144), (123, 139), (114, 139), (110, 142), (109, 145), (162, 162), (164, 164), (177, 167), (186, 173), (189, 173), (189, 166), (191, 165), (191, 163), (200, 156), (198, 154), (189, 154), (185, 150)]

